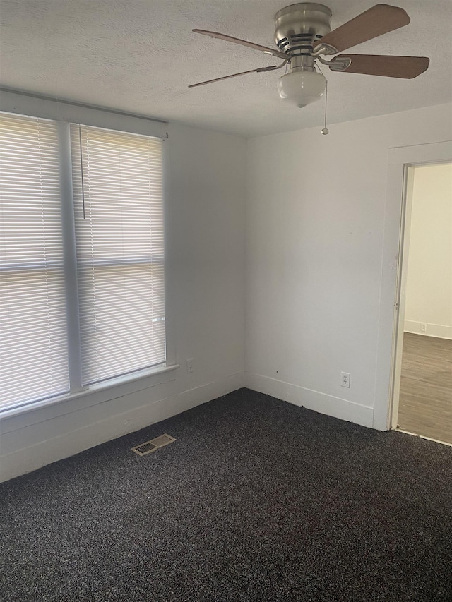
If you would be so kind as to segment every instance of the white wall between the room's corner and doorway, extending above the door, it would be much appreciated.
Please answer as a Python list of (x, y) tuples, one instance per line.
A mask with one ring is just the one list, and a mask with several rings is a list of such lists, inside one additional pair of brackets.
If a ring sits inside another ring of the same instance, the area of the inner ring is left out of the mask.
[[(328, 136), (311, 128), (249, 140), (246, 386), (379, 426), (388, 149), (450, 140), (451, 114), (440, 105), (334, 124)], [(384, 354), (390, 362), (390, 345)]]

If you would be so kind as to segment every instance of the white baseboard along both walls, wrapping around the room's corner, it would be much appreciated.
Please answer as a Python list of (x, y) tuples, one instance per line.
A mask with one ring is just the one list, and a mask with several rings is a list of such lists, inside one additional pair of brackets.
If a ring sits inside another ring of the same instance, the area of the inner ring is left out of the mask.
[[(241, 387), (272, 395), (321, 414), (362, 426), (372, 426), (374, 410), (371, 407), (275, 378), (238, 373), (155, 401), (150, 401), (149, 389), (136, 391), (117, 399), (108, 399), (95, 406), (81, 407), (71, 414), (46, 417), (44, 421), (28, 423), (26, 426), (24, 424), (23, 428), (17, 424), (20, 416), (16, 416), (15, 426), (18, 428), (1, 435), (0, 482), (32, 472), (127, 433), (133, 433)], [(129, 407), (129, 410), (123, 411), (126, 407)]]

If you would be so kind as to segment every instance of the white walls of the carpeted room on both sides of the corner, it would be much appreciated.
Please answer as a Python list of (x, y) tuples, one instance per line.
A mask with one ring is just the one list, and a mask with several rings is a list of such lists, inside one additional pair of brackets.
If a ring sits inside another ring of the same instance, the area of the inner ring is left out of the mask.
[(254, 138), (247, 157), (242, 138), (171, 126), (167, 293), (181, 368), (4, 419), (0, 481), (242, 385), (372, 426), (388, 149), (451, 139), (451, 110)]

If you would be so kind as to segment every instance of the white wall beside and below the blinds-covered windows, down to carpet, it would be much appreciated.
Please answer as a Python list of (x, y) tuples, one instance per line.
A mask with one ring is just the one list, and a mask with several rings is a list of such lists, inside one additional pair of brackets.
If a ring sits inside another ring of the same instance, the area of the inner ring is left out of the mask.
[(0, 481), (242, 386), (246, 141), (174, 125), (165, 144), (168, 327), (181, 367), (4, 419)]

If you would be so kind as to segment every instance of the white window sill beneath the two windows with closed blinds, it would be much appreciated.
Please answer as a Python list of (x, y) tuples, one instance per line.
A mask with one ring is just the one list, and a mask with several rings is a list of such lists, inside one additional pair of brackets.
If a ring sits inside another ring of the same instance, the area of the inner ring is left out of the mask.
[[(86, 404), (85, 407), (102, 403), (106, 401), (105, 393), (108, 392), (111, 392), (112, 394), (111, 397), (108, 397), (114, 399), (136, 391), (148, 389), (149, 387), (154, 387), (155, 385), (167, 383), (169, 380), (174, 380), (174, 378), (165, 378), (165, 375), (177, 370), (177, 368), (180, 368), (177, 363), (170, 366), (155, 366), (154, 368), (147, 368), (133, 373), (133, 375), (122, 375), (116, 378), (110, 378), (102, 383), (94, 383), (81, 391), (65, 393), (64, 395), (59, 395), (57, 397), (49, 397), (47, 399), (42, 399), (42, 401), (30, 402), (19, 406), (6, 406), (3, 409), (0, 409), (0, 419), (4, 420), (31, 411), (62, 406), (65, 402), (76, 401), (77, 399), (83, 400), (83, 398), (90, 396), (93, 397), (93, 402)], [(104, 395), (102, 395), (102, 393)], [(81, 408), (79, 407), (78, 409)], [(62, 411), (61, 413), (64, 414), (66, 412)]]

